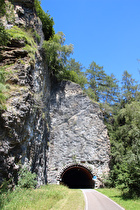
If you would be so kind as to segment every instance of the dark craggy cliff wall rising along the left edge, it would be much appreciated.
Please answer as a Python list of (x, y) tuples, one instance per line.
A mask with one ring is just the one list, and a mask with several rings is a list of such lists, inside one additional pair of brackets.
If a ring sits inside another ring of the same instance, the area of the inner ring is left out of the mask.
[(34, 1), (17, 0), (13, 8), (14, 23), (3, 17), (7, 29), (14, 25), (35, 30), (41, 37), (35, 59), (24, 49), (22, 39), (11, 39), (2, 51), (1, 65), (8, 74), (6, 111), (0, 117), (0, 178), (17, 179), (19, 165), (26, 164), (38, 175), (38, 184), (46, 183), (47, 139), (49, 123), (50, 80), (43, 63), (42, 23), (36, 16)]

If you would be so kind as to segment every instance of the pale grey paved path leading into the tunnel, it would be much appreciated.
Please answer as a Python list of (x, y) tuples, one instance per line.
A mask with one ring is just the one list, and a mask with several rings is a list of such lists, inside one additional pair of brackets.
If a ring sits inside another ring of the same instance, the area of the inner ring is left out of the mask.
[(85, 210), (124, 210), (107, 196), (93, 189), (82, 189), (85, 197)]

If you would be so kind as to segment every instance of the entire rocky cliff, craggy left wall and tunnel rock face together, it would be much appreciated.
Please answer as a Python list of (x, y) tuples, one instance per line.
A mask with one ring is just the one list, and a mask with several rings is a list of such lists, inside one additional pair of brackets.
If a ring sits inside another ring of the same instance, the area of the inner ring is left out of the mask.
[(51, 88), (34, 1), (6, 2), (12, 12), (11, 18), (2, 19), (5, 27), (36, 31), (41, 40), (34, 44), (34, 57), (25, 39), (12, 38), (2, 49), (8, 99), (0, 115), (0, 182), (7, 178), (15, 183), (24, 164), (37, 174), (38, 185), (57, 183), (63, 168), (74, 163), (88, 165), (101, 177), (109, 171), (109, 139), (98, 105), (77, 84), (62, 82)]

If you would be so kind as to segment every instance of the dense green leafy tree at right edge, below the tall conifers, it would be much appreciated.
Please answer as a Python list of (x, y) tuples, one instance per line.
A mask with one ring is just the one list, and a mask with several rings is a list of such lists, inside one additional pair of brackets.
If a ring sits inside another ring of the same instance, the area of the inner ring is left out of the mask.
[(120, 109), (113, 130), (110, 179), (129, 194), (140, 194), (140, 102), (132, 101)]

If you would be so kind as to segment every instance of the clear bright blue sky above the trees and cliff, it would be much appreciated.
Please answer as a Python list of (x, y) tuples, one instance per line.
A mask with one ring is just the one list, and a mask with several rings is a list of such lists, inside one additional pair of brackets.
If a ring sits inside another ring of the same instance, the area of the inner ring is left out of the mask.
[(140, 0), (42, 0), (54, 29), (74, 45), (73, 58), (92, 61), (121, 80), (124, 70), (140, 82)]

